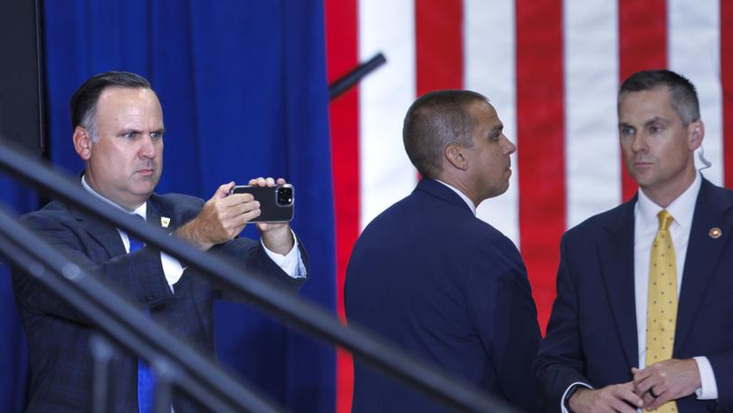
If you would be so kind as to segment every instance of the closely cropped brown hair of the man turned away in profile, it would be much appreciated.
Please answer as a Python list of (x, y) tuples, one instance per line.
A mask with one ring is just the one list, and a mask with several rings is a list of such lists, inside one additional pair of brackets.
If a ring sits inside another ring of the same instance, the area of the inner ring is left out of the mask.
[(424, 178), (437, 178), (443, 168), (443, 149), (448, 145), (473, 146), (476, 120), (468, 112), (476, 102), (489, 100), (475, 91), (433, 91), (410, 106), (402, 139), (410, 161)]

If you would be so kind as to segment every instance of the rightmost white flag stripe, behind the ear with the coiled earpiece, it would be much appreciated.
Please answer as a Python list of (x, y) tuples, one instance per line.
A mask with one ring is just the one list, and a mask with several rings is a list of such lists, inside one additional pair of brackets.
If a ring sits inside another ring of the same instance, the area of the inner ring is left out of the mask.
[(700, 96), (700, 117), (705, 124), (703, 148), (705, 158), (713, 164), (703, 175), (723, 185), (719, 0), (669, 0), (667, 7), (670, 69), (690, 79)]

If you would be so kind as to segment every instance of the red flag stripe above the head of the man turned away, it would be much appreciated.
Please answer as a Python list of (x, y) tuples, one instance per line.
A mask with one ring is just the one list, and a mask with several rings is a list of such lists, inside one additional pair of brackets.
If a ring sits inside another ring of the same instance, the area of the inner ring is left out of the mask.
[(417, 96), (463, 87), (462, 2), (414, 2)]

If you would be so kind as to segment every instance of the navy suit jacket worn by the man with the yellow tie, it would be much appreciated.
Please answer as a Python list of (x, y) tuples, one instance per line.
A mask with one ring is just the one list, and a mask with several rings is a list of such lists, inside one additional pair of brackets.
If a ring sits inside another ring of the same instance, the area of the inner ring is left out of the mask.
[[(639, 362), (633, 290), (636, 199), (570, 229), (560, 247), (557, 300), (537, 359), (547, 408), (567, 387), (631, 379)], [(711, 228), (722, 230), (719, 238)], [(733, 410), (733, 191), (703, 179), (690, 229), (672, 357), (708, 357), (719, 399), (679, 399), (681, 413)]]

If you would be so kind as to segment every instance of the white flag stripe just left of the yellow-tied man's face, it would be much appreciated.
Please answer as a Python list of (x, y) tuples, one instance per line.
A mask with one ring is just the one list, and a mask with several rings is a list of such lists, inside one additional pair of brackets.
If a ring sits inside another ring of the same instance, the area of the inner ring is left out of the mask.
[(566, 0), (564, 14), (566, 226), (572, 227), (621, 201), (618, 4)]

